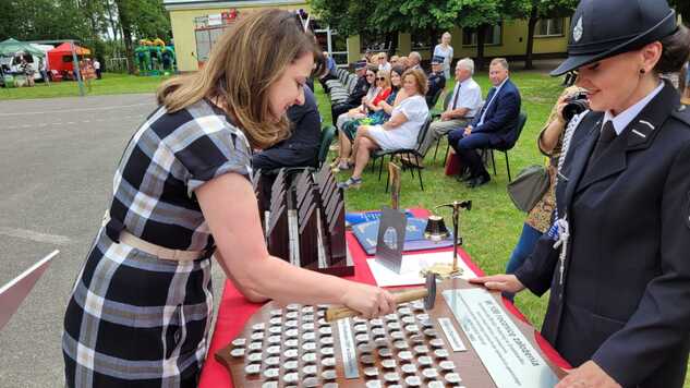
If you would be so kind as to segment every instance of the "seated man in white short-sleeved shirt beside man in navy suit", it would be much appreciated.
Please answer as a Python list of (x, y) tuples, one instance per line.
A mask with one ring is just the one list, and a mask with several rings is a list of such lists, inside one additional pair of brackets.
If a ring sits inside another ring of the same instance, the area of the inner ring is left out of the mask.
[(474, 75), (474, 61), (471, 58), (463, 58), (456, 63), (456, 86), (450, 95), (450, 101), (446, 110), (440, 113), (440, 120), (434, 121), (428, 128), (426, 138), (420, 148), (422, 155), (426, 155), (438, 137), (452, 130), (468, 126), (482, 108), (482, 87), (472, 78), (472, 75)]

